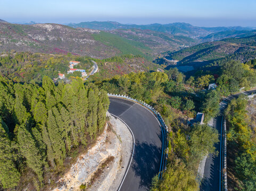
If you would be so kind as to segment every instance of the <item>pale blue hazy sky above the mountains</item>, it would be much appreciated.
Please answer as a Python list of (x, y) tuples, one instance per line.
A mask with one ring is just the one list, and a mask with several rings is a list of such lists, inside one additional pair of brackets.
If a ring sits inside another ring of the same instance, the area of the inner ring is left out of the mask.
[(187, 22), (197, 26), (256, 27), (256, 0), (0, 0), (9, 22)]

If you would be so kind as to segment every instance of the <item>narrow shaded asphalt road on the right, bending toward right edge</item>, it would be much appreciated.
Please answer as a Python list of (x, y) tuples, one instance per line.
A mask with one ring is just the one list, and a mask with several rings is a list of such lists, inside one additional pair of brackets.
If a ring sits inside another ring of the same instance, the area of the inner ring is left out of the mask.
[[(220, 103), (220, 114), (223, 114), (224, 110), (228, 106), (228, 103), (234, 99), (238, 98), (239, 95), (250, 95), (256, 93), (256, 90), (245, 91), (242, 93), (237, 93), (235, 95), (229, 96), (227, 99)], [(213, 127), (218, 129), (220, 134), (222, 115), (213, 119)], [(220, 137), (219, 137), (220, 138)], [(220, 153), (220, 143), (216, 145), (218, 152)], [(208, 155), (207, 161), (204, 167), (204, 177), (200, 187), (203, 191), (220, 191), (220, 154), (218, 156), (213, 156), (211, 153)]]

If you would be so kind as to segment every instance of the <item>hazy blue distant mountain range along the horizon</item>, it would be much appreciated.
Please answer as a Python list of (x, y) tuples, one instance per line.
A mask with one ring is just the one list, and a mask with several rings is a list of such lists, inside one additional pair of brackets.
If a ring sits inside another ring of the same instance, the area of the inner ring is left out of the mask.
[(69, 27), (73, 28), (89, 28), (95, 30), (114, 30), (114, 29), (142, 29), (142, 30), (153, 30), (158, 32), (166, 32), (175, 35), (183, 35), (192, 38), (200, 38), (208, 36), (210, 33), (222, 32), (222, 31), (250, 31), (252, 28), (247, 27), (194, 27), (188, 23), (170, 23), (170, 24), (121, 24), (118, 22), (104, 21), (104, 22), (81, 22), (81, 23), (70, 23)]

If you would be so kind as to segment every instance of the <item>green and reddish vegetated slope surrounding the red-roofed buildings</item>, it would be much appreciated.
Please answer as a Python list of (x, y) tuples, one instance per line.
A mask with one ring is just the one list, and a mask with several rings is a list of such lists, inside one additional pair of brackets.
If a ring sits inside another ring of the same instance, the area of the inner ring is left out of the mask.
[[(140, 55), (123, 55), (106, 59), (95, 59), (88, 56), (32, 54), (32, 53), (3, 53), (0, 57), (0, 74), (14, 82), (36, 82), (41, 84), (43, 76), (47, 75), (56, 81), (58, 73), (65, 74), (69, 70), (70, 60), (80, 63), (76, 68), (88, 72), (92, 69), (94, 60), (98, 64), (99, 72), (89, 77), (89, 80), (113, 77), (114, 75), (130, 72), (156, 71), (157, 65)], [(80, 73), (79, 73), (80, 74)], [(76, 75), (72, 75), (75, 76)], [(79, 76), (79, 75), (77, 75)], [(72, 77), (71, 77), (72, 79)]]

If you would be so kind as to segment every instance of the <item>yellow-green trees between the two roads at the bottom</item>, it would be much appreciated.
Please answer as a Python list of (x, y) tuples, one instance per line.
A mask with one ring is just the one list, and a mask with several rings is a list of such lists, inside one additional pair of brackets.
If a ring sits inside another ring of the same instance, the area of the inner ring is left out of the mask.
[(162, 179), (153, 178), (151, 190), (197, 190), (197, 167), (207, 153), (217, 154), (214, 144), (218, 143), (218, 136), (216, 129), (199, 124), (189, 133), (181, 129), (170, 132), (167, 169), (162, 173)]

